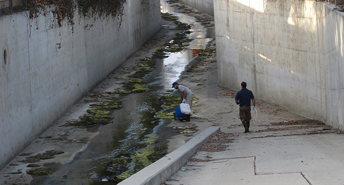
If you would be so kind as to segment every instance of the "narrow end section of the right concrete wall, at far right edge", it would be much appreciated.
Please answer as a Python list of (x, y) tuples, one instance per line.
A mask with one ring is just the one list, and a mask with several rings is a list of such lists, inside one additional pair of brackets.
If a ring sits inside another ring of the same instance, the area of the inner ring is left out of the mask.
[(324, 63), (326, 68), (326, 123), (344, 129), (344, 13), (324, 7)]

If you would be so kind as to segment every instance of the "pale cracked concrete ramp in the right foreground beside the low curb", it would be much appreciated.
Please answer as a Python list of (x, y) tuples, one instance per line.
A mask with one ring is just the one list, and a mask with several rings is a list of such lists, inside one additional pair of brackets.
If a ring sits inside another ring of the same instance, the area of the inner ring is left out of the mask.
[(223, 151), (198, 151), (163, 184), (344, 184), (336, 130), (234, 134)]

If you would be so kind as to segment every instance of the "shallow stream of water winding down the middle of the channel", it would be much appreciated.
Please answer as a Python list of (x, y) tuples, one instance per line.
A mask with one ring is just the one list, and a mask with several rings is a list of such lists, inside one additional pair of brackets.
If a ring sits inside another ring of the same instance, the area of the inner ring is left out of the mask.
[(157, 59), (153, 71), (144, 78), (148, 90), (122, 98), (123, 107), (114, 112), (112, 123), (100, 126), (100, 133), (83, 151), (69, 163), (59, 166), (59, 170), (48, 178), (36, 177), (32, 184), (113, 184), (107, 182), (111, 175), (106, 171), (109, 160), (135, 150), (136, 145), (149, 136), (158, 135), (158, 141), (163, 145), (175, 134), (172, 128), (165, 127), (171, 120), (154, 117), (163, 103), (159, 97), (170, 93), (171, 83), (179, 79), (186, 65), (212, 40), (208, 36), (212, 30), (207, 30), (195, 17), (176, 13), (175, 7), (169, 6), (165, 0), (160, 0), (160, 3), (161, 12), (172, 13), (191, 25), (192, 33), (188, 37), (194, 40), (186, 50)]

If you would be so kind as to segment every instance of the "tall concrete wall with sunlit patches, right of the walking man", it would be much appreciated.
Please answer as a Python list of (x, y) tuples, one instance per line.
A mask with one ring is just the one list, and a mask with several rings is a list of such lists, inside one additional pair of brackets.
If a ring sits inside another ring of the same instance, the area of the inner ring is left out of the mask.
[(214, 0), (219, 85), (343, 129), (343, 13), (326, 3)]

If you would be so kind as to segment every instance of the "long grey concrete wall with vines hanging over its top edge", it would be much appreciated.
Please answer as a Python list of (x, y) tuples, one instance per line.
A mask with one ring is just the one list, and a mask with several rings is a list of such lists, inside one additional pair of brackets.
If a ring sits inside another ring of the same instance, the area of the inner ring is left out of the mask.
[(127, 0), (120, 28), (78, 12), (73, 29), (52, 13), (0, 17), (0, 169), (161, 28), (159, 7)]

